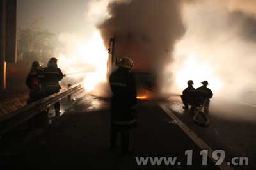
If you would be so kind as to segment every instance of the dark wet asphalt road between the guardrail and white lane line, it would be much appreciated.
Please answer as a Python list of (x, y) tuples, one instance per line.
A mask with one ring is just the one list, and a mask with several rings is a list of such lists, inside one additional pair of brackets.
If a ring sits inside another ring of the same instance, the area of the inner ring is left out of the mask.
[[(20, 144), (10, 155), (6, 149), (1, 169), (219, 169), (211, 160), (202, 166), (201, 148), (158, 102), (141, 101), (138, 112), (131, 155), (109, 150), (109, 102), (87, 96), (35, 140)], [(186, 150), (193, 150), (191, 166), (186, 165)], [(177, 161), (175, 166), (163, 162), (138, 166), (136, 157), (177, 157)]]

